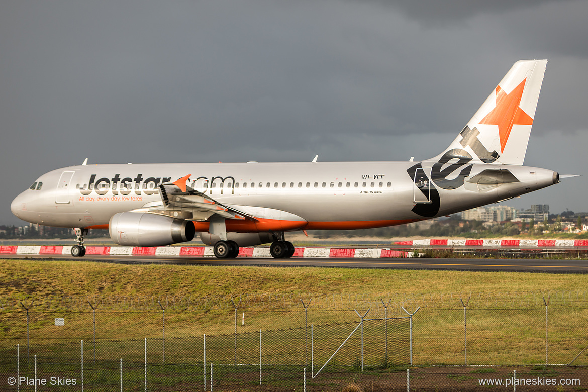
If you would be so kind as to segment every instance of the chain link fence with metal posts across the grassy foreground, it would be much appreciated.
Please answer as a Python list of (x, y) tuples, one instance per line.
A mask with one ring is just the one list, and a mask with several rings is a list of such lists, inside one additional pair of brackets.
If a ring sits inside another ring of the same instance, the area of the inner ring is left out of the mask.
[(0, 299), (0, 391), (588, 386), (584, 292), (145, 298)]

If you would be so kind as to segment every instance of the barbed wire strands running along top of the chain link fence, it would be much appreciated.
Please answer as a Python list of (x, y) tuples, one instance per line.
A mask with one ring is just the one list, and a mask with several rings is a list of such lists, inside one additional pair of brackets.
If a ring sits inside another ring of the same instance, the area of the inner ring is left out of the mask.
[[(310, 302), (313, 309), (400, 309), (417, 307), (423, 309), (461, 308), (464, 302), (468, 308), (512, 308), (527, 309), (544, 307), (543, 299), (549, 299), (550, 307), (586, 307), (586, 291), (530, 291), (530, 292), (486, 292), (486, 293), (426, 293), (408, 295), (402, 293), (262, 293), (262, 294), (211, 294), (194, 296), (191, 294), (146, 294), (134, 296), (31, 296), (26, 294), (0, 297), (0, 312), (22, 310), (21, 302), (34, 303), (36, 311), (49, 310), (97, 310), (109, 311), (159, 311), (158, 302), (166, 304), (166, 309), (183, 310), (304, 310), (303, 304)], [(389, 304), (388, 304), (389, 303)]]

